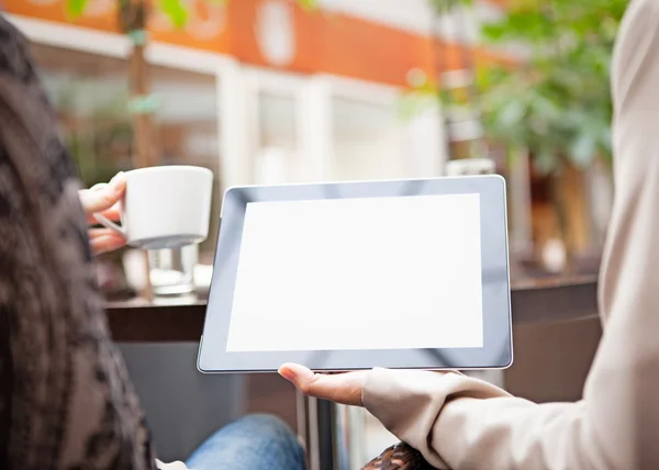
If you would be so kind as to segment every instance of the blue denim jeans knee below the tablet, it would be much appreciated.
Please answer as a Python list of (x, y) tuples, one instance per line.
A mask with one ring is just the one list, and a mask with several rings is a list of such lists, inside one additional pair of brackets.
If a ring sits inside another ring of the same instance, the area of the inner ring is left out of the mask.
[(191, 470), (304, 470), (293, 432), (269, 415), (242, 417), (209, 437), (186, 462)]

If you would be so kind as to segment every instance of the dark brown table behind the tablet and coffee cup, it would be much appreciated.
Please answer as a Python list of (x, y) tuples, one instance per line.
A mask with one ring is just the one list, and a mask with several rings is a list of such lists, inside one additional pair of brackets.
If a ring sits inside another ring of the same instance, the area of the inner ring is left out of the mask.
[[(513, 324), (584, 320), (597, 315), (596, 278), (550, 278), (515, 282), (511, 292)], [(205, 302), (153, 304), (144, 300), (107, 304), (113, 338), (123, 343), (198, 342)], [(312, 429), (312, 470), (336, 468), (336, 409), (313, 400), (308, 405)]]

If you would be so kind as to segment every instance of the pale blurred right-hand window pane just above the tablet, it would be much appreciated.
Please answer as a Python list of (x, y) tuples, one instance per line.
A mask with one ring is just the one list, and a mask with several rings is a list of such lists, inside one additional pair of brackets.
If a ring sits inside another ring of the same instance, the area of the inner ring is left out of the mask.
[(403, 122), (395, 105), (332, 99), (332, 179), (404, 178)]

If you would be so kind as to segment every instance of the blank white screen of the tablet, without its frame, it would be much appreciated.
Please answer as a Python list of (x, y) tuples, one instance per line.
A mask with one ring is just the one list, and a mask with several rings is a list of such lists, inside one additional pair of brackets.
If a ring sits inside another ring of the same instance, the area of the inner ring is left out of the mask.
[(247, 204), (227, 351), (483, 346), (479, 194)]

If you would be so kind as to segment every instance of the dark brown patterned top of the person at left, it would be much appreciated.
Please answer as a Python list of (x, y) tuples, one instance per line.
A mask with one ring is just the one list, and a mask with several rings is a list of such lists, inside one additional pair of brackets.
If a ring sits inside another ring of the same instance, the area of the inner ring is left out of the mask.
[(26, 43), (0, 15), (0, 469), (155, 468), (78, 188)]

